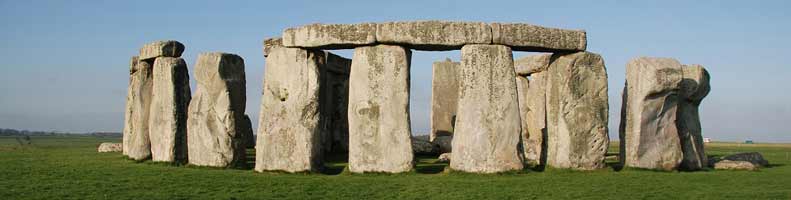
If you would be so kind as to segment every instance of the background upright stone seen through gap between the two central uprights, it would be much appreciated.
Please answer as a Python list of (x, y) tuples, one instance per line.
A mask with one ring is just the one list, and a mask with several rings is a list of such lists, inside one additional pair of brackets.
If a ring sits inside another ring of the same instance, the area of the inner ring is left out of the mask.
[(456, 105), (459, 101), (460, 63), (446, 59), (434, 62), (431, 74), (431, 141), (438, 136), (453, 136)]

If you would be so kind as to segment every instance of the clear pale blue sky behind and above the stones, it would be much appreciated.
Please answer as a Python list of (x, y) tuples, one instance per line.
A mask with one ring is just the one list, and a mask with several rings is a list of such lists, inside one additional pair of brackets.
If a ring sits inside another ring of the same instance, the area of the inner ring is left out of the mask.
[[(187, 46), (190, 69), (201, 52), (242, 56), (247, 113), (257, 124), (264, 38), (315, 22), (438, 19), (587, 30), (588, 51), (601, 54), (608, 70), (611, 137), (618, 135), (626, 63), (655, 56), (711, 73), (701, 107), (706, 137), (791, 142), (790, 2), (0, 0), (0, 128), (120, 132), (129, 58), (163, 39)], [(429, 129), (431, 63), (459, 56), (413, 52), (413, 132)]]

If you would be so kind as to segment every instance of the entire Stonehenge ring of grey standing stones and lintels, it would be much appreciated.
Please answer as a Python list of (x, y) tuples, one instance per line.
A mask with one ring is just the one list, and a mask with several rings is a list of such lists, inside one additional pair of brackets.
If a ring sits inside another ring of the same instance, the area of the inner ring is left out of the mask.
[[(130, 62), (123, 154), (246, 168), (246, 150), (255, 148), (253, 170), (286, 173), (322, 172), (338, 155), (348, 155), (351, 173), (410, 172), (419, 156), (436, 154), (448, 170), (467, 173), (606, 167), (607, 69), (602, 56), (587, 51), (584, 30), (406, 21), (309, 24), (281, 34), (262, 44), (257, 122), (245, 114), (242, 57), (198, 55), (192, 93), (180, 58), (184, 45), (144, 45)], [(329, 51), (336, 49), (354, 53), (350, 59)], [(413, 50), (461, 50), (458, 62), (432, 64), (430, 132), (422, 136), (427, 140), (412, 136)], [(513, 51), (540, 54), (514, 59)], [(698, 111), (711, 90), (709, 79), (700, 65), (630, 61), (620, 164), (709, 167)]]

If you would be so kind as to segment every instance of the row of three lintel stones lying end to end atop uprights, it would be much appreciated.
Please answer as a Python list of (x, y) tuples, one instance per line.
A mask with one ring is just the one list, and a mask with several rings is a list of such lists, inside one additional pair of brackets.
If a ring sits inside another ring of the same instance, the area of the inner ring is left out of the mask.
[(312, 49), (351, 49), (395, 44), (424, 51), (459, 50), (468, 44), (500, 44), (521, 51), (584, 51), (584, 30), (525, 23), (406, 21), (360, 24), (310, 24), (283, 31), (282, 45)]

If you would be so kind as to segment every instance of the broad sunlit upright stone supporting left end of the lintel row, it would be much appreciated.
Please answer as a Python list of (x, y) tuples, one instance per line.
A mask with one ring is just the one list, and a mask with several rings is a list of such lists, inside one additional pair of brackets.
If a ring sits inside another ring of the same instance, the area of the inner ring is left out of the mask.
[(276, 47), (266, 58), (256, 171), (321, 167), (320, 86), (324, 52)]

